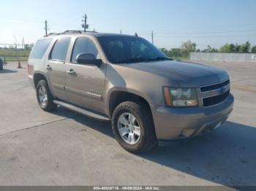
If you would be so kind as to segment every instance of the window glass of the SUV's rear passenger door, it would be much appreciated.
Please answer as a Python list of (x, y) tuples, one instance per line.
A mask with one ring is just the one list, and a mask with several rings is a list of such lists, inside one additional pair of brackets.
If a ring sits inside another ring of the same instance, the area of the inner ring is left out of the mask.
[(50, 59), (57, 61), (66, 61), (67, 50), (69, 49), (70, 37), (64, 37), (54, 44)]

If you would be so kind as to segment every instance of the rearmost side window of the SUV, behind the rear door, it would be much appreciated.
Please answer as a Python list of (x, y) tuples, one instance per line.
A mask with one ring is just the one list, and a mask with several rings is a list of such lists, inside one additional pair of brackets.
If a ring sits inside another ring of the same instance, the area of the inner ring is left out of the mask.
[(34, 45), (29, 58), (42, 59), (52, 39), (38, 40)]

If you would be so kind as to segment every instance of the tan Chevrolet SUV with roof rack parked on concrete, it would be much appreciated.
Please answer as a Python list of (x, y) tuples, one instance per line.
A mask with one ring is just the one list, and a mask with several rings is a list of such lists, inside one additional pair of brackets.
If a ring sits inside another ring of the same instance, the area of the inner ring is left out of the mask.
[(233, 110), (226, 71), (173, 61), (138, 36), (51, 34), (37, 41), (28, 66), (43, 110), (59, 105), (111, 120), (129, 152), (207, 133)]

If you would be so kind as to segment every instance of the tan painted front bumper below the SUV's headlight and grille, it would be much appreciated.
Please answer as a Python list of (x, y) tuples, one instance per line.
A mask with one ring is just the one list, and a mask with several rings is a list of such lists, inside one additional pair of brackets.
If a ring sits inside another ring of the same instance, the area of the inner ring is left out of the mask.
[(214, 130), (227, 120), (233, 110), (234, 97), (230, 95), (221, 104), (209, 107), (152, 109), (154, 126), (159, 140), (182, 139)]

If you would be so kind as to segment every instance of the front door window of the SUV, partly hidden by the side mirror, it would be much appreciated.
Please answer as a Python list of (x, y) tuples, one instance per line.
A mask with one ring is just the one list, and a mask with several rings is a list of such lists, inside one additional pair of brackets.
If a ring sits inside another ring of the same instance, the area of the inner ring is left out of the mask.
[(90, 53), (95, 55), (96, 58), (98, 57), (97, 47), (95, 47), (94, 42), (88, 38), (78, 38), (75, 41), (71, 59), (72, 63), (77, 62), (76, 58), (80, 53)]

